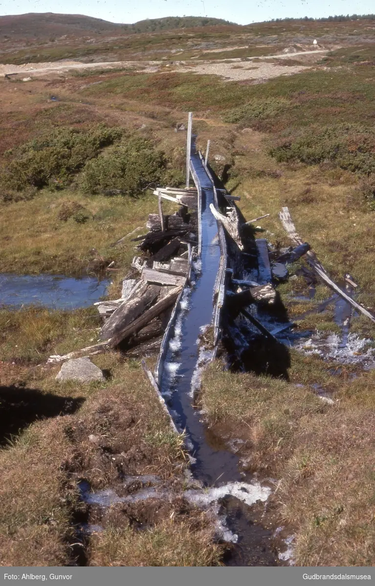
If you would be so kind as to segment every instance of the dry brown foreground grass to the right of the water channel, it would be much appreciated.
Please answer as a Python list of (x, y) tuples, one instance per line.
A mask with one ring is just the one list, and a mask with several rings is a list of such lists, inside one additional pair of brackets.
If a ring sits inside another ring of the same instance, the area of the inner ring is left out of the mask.
[[(250, 469), (277, 479), (270, 506), (295, 534), (296, 565), (371, 566), (374, 374), (333, 377), (320, 359), (292, 359), (289, 383), (213, 365), (202, 407), (214, 430), (245, 440), (240, 454)], [(313, 384), (335, 403), (318, 398)]]

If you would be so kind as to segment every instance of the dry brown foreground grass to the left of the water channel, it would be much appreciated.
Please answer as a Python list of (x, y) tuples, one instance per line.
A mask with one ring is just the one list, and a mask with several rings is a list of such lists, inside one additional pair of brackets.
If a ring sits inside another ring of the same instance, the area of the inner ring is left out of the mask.
[[(6, 387), (1, 393), (22, 393), (23, 407), (30, 397), (33, 420), (26, 428), (23, 422), (0, 450), (0, 564), (67, 565), (79, 549), (92, 565), (218, 564), (221, 549), (213, 543), (210, 520), (188, 511), (181, 516), (178, 500), (164, 513), (161, 507), (147, 532), (139, 533), (128, 517), (118, 516), (116, 526), (109, 521), (102, 534), (92, 537), (89, 550), (85, 544), (73, 546), (76, 524), (97, 515), (80, 502), (79, 479), (87, 479), (93, 489), (124, 490), (123, 474), (151, 473), (178, 493), (186, 466), (182, 439), (171, 431), (140, 364), (124, 362), (116, 353), (94, 362), (110, 372), (107, 383), (60, 384), (55, 381), (59, 366), (31, 370), (2, 364)], [(76, 413), (50, 417), (46, 406), (54, 397), (84, 402), (78, 410), (76, 404)], [(9, 418), (16, 417), (14, 408)]]

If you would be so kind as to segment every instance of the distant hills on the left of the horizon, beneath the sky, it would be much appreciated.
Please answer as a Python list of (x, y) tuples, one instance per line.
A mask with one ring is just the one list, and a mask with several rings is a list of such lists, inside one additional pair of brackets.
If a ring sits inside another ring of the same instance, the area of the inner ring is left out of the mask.
[(143, 33), (160, 30), (192, 28), (229, 24), (219, 18), (200, 16), (168, 16), (153, 18), (134, 24), (103, 21), (100, 18), (80, 14), (55, 14), (53, 12), (29, 12), (28, 14), (0, 16), (0, 40), (63, 35), (90, 35), (100, 33)]

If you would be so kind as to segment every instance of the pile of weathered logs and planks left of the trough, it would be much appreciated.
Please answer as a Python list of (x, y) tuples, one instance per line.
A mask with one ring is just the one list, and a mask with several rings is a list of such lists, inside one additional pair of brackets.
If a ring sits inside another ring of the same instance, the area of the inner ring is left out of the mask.
[(104, 320), (99, 343), (69, 355), (51, 356), (49, 362), (116, 347), (130, 356), (158, 352), (173, 306), (188, 283), (192, 250), (198, 241), (198, 217), (194, 190), (165, 188), (155, 193), (159, 197), (165, 193), (179, 209), (164, 214), (159, 205), (160, 213), (148, 216), (148, 232), (132, 239), (139, 255), (133, 258), (132, 270), (123, 280), (121, 298), (95, 304)]

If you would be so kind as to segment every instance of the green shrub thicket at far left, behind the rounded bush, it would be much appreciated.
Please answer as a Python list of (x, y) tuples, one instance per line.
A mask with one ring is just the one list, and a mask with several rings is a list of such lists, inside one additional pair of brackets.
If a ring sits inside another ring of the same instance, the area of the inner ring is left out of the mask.
[(2, 180), (16, 191), (28, 186), (64, 188), (87, 160), (96, 157), (122, 134), (121, 129), (103, 124), (88, 131), (55, 128), (19, 147)]

